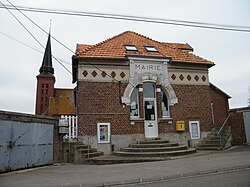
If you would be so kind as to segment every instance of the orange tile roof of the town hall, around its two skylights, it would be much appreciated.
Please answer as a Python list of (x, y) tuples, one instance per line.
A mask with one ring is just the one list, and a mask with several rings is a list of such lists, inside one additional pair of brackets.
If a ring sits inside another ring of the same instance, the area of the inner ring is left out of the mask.
[[(124, 45), (135, 45), (138, 50), (126, 51)], [(145, 46), (154, 46), (158, 52), (148, 52)], [(138, 33), (126, 31), (96, 45), (77, 44), (76, 56), (97, 58), (127, 58), (130, 55), (170, 57), (173, 62), (214, 65), (213, 62), (196, 56), (190, 51), (193, 51), (193, 48), (188, 44), (158, 42)]]

